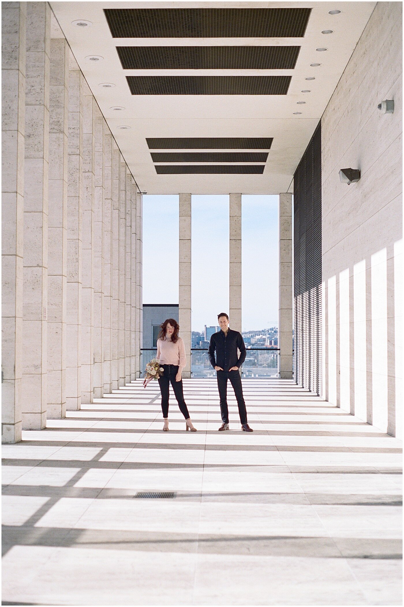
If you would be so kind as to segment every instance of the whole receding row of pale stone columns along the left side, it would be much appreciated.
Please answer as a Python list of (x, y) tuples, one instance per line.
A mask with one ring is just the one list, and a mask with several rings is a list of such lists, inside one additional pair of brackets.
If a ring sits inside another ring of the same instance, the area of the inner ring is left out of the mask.
[(140, 375), (142, 196), (51, 18), (2, 3), (6, 443)]

